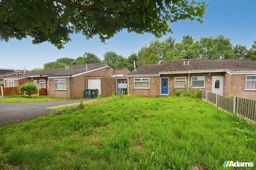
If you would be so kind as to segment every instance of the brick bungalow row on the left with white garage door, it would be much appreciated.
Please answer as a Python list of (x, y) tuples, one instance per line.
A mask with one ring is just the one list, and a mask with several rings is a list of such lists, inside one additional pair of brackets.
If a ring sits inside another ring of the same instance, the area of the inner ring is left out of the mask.
[(4, 78), (5, 87), (19, 87), (33, 79), (38, 88), (46, 88), (55, 98), (81, 98), (85, 89), (98, 89), (99, 95), (117, 92), (117, 77), (125, 78), (127, 69), (114, 70), (105, 63), (83, 64), (61, 69), (44, 70), (27, 75)]

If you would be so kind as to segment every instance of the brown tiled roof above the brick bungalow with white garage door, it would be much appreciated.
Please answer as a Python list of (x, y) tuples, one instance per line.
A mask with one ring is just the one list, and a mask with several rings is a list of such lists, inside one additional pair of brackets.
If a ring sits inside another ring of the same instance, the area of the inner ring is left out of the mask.
[[(28, 73), (26, 76), (33, 76), (33, 75), (50, 75), (50, 76), (69, 76), (74, 75), (94, 69), (98, 69), (100, 67), (107, 66), (105, 63), (97, 63), (97, 64), (82, 64), (69, 67), (68, 69), (60, 68), (60, 69), (50, 69), (50, 70), (43, 70), (34, 73)], [(17, 76), (15, 78), (22, 78), (24, 75)]]

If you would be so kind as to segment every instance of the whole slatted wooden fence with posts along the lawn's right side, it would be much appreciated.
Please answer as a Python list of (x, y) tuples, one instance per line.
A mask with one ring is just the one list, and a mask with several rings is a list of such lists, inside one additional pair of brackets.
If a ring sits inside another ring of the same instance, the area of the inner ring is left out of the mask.
[(235, 96), (234, 98), (214, 94), (210, 91), (201, 91), (201, 98), (227, 112), (256, 122), (256, 101)]

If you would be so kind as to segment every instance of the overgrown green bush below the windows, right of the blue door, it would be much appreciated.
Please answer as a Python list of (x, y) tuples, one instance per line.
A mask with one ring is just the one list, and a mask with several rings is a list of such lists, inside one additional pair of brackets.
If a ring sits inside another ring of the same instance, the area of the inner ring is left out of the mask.
[(185, 97), (192, 97), (192, 98), (201, 98), (201, 91), (194, 88), (187, 88), (177, 91), (176, 89), (172, 89), (173, 96), (185, 96)]

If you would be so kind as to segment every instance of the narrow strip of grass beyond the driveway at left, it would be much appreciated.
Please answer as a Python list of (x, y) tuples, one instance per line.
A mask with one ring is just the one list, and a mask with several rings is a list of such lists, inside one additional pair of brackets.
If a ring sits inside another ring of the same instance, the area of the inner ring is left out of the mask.
[(48, 96), (33, 96), (33, 98), (29, 98), (27, 96), (15, 96), (15, 97), (0, 98), (0, 103), (59, 101), (59, 100), (64, 100), (64, 99), (50, 98)]

